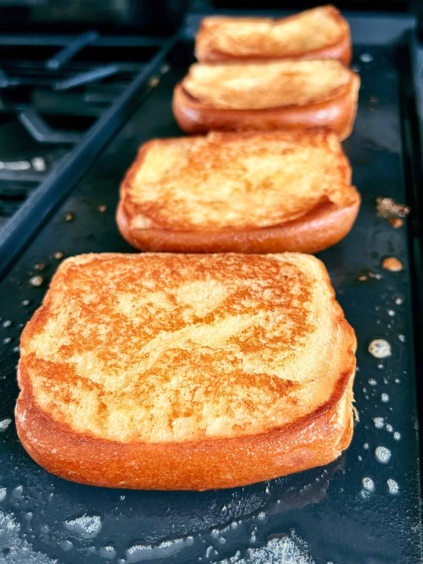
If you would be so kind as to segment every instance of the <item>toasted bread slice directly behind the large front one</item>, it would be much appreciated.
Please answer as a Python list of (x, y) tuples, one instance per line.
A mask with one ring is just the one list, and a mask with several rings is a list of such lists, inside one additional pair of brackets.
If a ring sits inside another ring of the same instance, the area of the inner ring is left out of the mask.
[(314, 253), (350, 231), (359, 206), (330, 131), (212, 132), (145, 143), (117, 224), (140, 250)]

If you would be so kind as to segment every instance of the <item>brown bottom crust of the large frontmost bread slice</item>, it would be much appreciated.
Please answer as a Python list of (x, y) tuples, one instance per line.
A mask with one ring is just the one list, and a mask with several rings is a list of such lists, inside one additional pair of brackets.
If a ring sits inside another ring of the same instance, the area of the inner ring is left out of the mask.
[[(261, 482), (321, 466), (340, 456), (353, 431), (355, 335), (343, 318), (345, 364), (328, 401), (294, 424), (262, 434), (173, 443), (123, 444), (75, 433), (37, 406), (24, 362), (15, 418), (25, 450), (49, 472), (94, 486), (210, 490)], [(160, 469), (160, 472), (157, 470)]]

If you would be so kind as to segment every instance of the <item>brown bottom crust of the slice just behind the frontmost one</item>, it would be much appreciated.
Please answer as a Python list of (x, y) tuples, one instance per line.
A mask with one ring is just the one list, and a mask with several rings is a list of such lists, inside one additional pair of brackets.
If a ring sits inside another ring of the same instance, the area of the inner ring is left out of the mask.
[(131, 229), (130, 211), (121, 200), (116, 221), (121, 235), (136, 249), (180, 253), (317, 253), (338, 243), (350, 232), (360, 208), (360, 195), (341, 207), (321, 202), (293, 221), (257, 229), (187, 230)]

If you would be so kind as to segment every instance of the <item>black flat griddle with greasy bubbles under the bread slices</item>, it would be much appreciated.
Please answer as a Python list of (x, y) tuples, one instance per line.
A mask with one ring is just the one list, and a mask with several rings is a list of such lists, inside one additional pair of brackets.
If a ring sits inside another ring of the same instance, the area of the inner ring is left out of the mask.
[[(349, 17), (352, 65), (362, 88), (354, 132), (343, 147), (363, 202), (351, 233), (318, 255), (358, 338), (354, 393), (360, 420), (340, 459), (231, 490), (112, 490), (45, 472), (17, 438), (13, 410), (23, 324), (58, 267), (56, 253), (133, 252), (114, 222), (118, 185), (140, 143), (181, 135), (171, 95), (193, 60), (199, 17), (188, 17), (168, 56), (170, 71), (155, 90), (82, 179), (64, 187), (64, 195), (72, 190), (37, 235), (24, 243), (21, 237), (23, 251), (0, 283), (0, 562), (422, 562), (416, 384), (421, 145), (411, 16)], [(379, 196), (412, 206), (403, 227), (378, 217)], [(404, 270), (382, 268), (387, 256), (398, 258)], [(33, 276), (42, 277), (38, 287), (30, 283)], [(374, 338), (389, 341), (389, 358), (369, 354)]]

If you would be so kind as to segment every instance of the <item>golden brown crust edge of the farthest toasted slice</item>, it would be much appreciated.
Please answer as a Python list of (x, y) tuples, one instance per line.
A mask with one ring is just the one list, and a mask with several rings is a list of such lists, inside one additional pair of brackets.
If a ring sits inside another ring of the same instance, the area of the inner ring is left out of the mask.
[[(312, 49), (307, 51), (289, 52), (286, 57), (291, 59), (338, 59), (346, 66), (349, 66), (352, 58), (352, 47), (351, 47), (351, 33), (348, 22), (342, 17), (340, 11), (334, 6), (324, 6), (322, 7), (328, 14), (332, 17), (334, 21), (339, 25), (340, 30), (342, 30), (341, 38), (335, 42), (328, 43), (327, 45), (321, 46), (319, 49)], [(284, 23), (292, 19), (296, 19), (298, 15), (288, 16), (274, 20), (275, 24)], [(252, 19), (253, 21), (253, 19)], [(202, 63), (235, 63), (241, 61), (263, 61), (274, 58), (285, 58), (284, 55), (267, 55), (267, 54), (255, 54), (255, 55), (237, 55), (232, 52), (223, 52), (218, 49), (214, 49), (213, 42), (210, 41), (209, 31), (204, 25), (204, 20), (201, 21), (200, 28), (195, 37), (195, 55), (197, 60)]]

